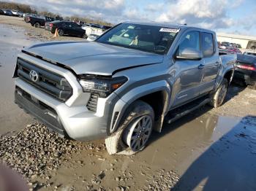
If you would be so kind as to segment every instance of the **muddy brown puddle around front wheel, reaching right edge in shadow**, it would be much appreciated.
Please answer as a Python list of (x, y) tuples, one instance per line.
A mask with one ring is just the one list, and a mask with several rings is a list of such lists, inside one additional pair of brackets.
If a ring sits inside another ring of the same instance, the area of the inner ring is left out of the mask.
[[(255, 117), (223, 117), (205, 112), (164, 125), (163, 132), (154, 133), (148, 147), (132, 157), (83, 151), (70, 161), (83, 160), (86, 165), (62, 166), (53, 182), (75, 184), (74, 174), (90, 180), (92, 174), (105, 171), (101, 185), (112, 188), (116, 176), (130, 172), (133, 178), (125, 185), (136, 190), (143, 184), (154, 184), (148, 180), (156, 171), (165, 169), (181, 176), (178, 190), (256, 190)], [(99, 156), (105, 160), (99, 160)], [(76, 185), (78, 190), (83, 189), (79, 182)]]

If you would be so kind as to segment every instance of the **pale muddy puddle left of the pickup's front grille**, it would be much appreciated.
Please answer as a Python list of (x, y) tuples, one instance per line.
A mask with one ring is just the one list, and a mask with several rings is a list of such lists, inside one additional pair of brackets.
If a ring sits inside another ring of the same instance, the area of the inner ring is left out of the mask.
[(0, 24), (0, 134), (20, 130), (32, 122), (14, 104), (14, 80), (12, 79), (17, 54), (24, 46), (34, 43), (24, 35), (23, 28)]

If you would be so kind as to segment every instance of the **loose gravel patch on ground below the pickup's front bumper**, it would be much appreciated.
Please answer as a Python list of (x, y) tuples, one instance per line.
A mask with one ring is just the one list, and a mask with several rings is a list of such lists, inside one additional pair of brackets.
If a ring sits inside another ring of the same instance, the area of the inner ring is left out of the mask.
[(44, 125), (28, 125), (15, 136), (0, 136), (0, 160), (25, 179), (50, 179), (69, 156), (93, 144), (62, 139)]

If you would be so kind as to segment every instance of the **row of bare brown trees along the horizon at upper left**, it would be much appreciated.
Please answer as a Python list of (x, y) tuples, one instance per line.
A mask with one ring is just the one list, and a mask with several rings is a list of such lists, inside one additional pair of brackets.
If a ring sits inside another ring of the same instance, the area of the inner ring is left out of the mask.
[[(61, 17), (60, 14), (56, 14), (48, 11), (38, 11), (37, 9), (35, 9), (34, 7), (31, 7), (28, 4), (20, 4), (15, 2), (0, 1), (0, 9), (15, 9), (20, 12), (37, 14), (37, 15), (45, 15), (48, 17)], [(104, 20), (94, 20), (89, 17), (80, 17), (78, 15), (73, 15), (71, 17), (64, 17), (64, 20), (80, 20), (85, 23), (97, 23), (99, 25), (113, 26), (113, 24), (105, 22)]]

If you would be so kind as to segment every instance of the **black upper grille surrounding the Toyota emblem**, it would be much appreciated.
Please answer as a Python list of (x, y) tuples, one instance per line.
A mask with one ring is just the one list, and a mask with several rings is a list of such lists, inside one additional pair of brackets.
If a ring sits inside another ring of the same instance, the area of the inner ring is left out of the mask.
[[(18, 58), (17, 62), (18, 77), (29, 82), (34, 87), (37, 87), (39, 90), (48, 93), (60, 101), (67, 101), (72, 95), (72, 87), (64, 77), (61, 77), (59, 74), (55, 74), (52, 71), (42, 69), (41, 67), (20, 58)], [(36, 71), (38, 74), (36, 82), (31, 79), (29, 75), (30, 71)]]

